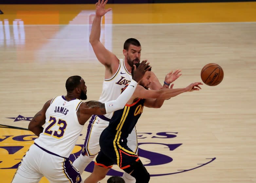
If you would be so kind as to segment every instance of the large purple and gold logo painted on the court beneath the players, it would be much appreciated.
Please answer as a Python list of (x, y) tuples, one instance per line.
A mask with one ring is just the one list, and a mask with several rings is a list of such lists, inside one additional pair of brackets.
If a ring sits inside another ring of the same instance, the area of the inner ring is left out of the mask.
[[(20, 115), (19, 115), (20, 116)], [(19, 116), (17, 118), (19, 118)], [(23, 117), (25, 118), (25, 117)], [(7, 130), (8, 129), (8, 130)], [(14, 126), (8, 126), (8, 125), (0, 125), (0, 149), (5, 149), (6, 153), (3, 154), (4, 156), (0, 157), (0, 171), (1, 169), (17, 169), (21, 158), (25, 155), (27, 150), (29, 149), (30, 145), (33, 143), (33, 141), (37, 138), (37, 136), (33, 135), (32, 132), (28, 131), (26, 128), (20, 128), (20, 127), (14, 127)], [(173, 158), (169, 155), (173, 153), (173, 151), (177, 148), (179, 148), (182, 143), (165, 143), (170, 142), (170, 139), (177, 137), (177, 132), (158, 132), (158, 133), (137, 133), (138, 141), (141, 141), (138, 143), (138, 152), (139, 157), (146, 159), (144, 161), (144, 165), (146, 167), (149, 166), (161, 166), (166, 165), (169, 163), (172, 163)], [(141, 139), (141, 140), (140, 140)], [(152, 139), (152, 140), (151, 140)], [(157, 142), (154, 142), (157, 139)], [(166, 140), (165, 140), (166, 139)], [(155, 148), (156, 151), (148, 150), (152, 148), (152, 145)], [(74, 161), (78, 156), (80, 156), (81, 149), (83, 147), (83, 144), (76, 144), (76, 146), (79, 146), (81, 148), (77, 152), (73, 152), (70, 155), (70, 160)], [(168, 150), (168, 151), (166, 151)], [(171, 151), (170, 153), (168, 153)], [(159, 153), (161, 152), (161, 153)], [(162, 152), (165, 152), (163, 154)], [(170, 170), (164, 169), (164, 171), (161, 174), (156, 174), (152, 171), (150, 171), (151, 176), (163, 176), (163, 175), (172, 175), (172, 174), (178, 174), (183, 173), (187, 171), (191, 171), (197, 168), (200, 168), (202, 166), (205, 166), (209, 164), (210, 162), (214, 161), (216, 158), (202, 158), (201, 162), (196, 162), (194, 167), (185, 167), (186, 165), (182, 165), (184, 167), (181, 167), (179, 170)], [(177, 160), (177, 159), (175, 159)], [(92, 172), (94, 167), (94, 162), (91, 162), (85, 169), (87, 172)], [(168, 167), (172, 167), (172, 165), (168, 165)], [(167, 171), (167, 172), (165, 172)], [(169, 171), (169, 172), (168, 172)], [(108, 175), (117, 175), (121, 176), (123, 172), (111, 169), (108, 172)]]

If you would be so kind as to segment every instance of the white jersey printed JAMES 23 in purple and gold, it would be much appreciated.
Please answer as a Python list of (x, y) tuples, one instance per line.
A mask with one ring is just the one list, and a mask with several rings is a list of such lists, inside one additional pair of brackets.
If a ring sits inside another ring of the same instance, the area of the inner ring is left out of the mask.
[(79, 99), (66, 101), (64, 96), (55, 97), (46, 110), (44, 131), (35, 139), (35, 143), (68, 158), (83, 128), (76, 114), (81, 103)]

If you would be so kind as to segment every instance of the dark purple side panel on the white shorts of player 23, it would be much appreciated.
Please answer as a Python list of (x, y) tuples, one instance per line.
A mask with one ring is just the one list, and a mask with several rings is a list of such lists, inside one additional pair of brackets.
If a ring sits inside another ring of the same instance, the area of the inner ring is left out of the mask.
[(64, 174), (73, 183), (80, 183), (82, 181), (80, 173), (73, 167), (69, 159), (63, 162)]

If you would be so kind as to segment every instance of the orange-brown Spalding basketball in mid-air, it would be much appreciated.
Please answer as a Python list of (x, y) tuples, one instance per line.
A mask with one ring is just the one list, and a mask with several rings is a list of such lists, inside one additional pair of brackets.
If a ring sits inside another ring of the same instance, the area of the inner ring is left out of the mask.
[(223, 77), (223, 69), (216, 63), (206, 64), (201, 70), (201, 79), (208, 86), (220, 84)]

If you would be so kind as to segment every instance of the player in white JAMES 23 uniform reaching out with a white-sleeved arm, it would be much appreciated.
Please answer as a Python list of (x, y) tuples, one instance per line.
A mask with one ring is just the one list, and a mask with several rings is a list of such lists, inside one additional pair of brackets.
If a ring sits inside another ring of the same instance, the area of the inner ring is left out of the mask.
[[(36, 183), (45, 176), (50, 182), (79, 183), (79, 171), (72, 166), (69, 155), (82, 131), (83, 125), (92, 114), (103, 115), (124, 107), (132, 96), (137, 81), (147, 71), (145, 64), (137, 68), (128, 91), (116, 100), (101, 103), (86, 100), (87, 87), (80, 76), (71, 76), (66, 81), (66, 96), (57, 96), (45, 103), (33, 117), (28, 129), (39, 138), (34, 140), (21, 160), (12, 183)], [(81, 100), (80, 100), (81, 99)], [(43, 128), (42, 126), (45, 125)]]

